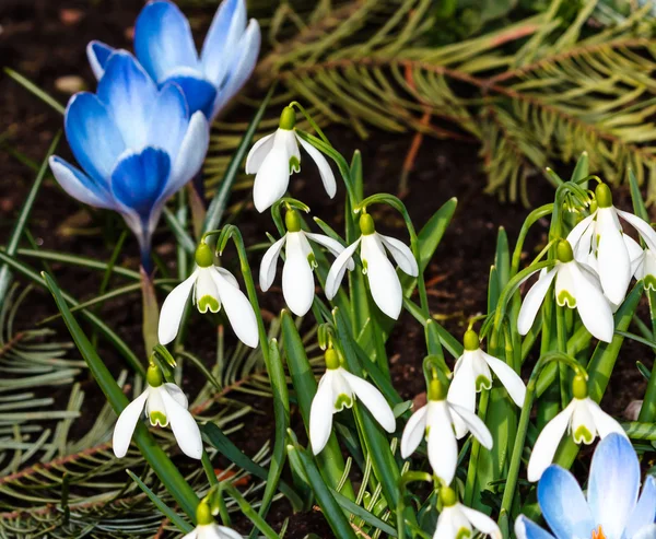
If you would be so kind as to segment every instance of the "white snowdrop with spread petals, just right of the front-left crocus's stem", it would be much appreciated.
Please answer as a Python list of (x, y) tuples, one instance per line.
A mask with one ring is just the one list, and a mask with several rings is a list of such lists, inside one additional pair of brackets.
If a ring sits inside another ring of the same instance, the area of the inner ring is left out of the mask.
[(194, 302), (200, 313), (218, 313), (222, 306), (225, 307), (227, 319), (239, 340), (250, 348), (257, 348), (259, 336), (253, 305), (239, 290), (235, 277), (214, 266), (212, 249), (204, 242), (196, 249), (196, 266), (194, 273), (164, 300), (157, 328), (160, 342), (168, 344), (175, 339), (187, 298), (194, 289)]

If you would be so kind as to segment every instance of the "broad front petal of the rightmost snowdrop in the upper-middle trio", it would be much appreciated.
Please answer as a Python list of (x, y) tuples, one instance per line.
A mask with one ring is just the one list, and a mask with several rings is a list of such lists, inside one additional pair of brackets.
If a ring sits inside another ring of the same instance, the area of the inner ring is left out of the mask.
[(366, 276), (372, 297), (378, 308), (395, 320), (401, 314), (401, 283), (376, 234), (362, 236), (361, 258), (366, 262)]

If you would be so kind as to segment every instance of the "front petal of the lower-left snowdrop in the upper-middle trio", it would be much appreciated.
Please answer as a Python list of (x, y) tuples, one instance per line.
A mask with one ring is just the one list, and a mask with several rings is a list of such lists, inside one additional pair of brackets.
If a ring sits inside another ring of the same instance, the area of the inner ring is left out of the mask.
[(314, 273), (307, 259), (307, 239), (301, 232), (288, 232), (285, 261), (282, 267), (282, 294), (284, 301), (296, 316), (304, 316), (314, 301)]

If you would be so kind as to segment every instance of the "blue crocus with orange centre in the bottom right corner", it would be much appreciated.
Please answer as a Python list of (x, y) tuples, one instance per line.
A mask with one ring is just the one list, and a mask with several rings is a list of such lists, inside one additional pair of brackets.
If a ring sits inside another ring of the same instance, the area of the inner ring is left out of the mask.
[(593, 457), (587, 496), (574, 476), (552, 465), (538, 483), (538, 503), (551, 534), (520, 515), (519, 539), (656, 539), (656, 480), (640, 493), (640, 462), (631, 442), (609, 434)]

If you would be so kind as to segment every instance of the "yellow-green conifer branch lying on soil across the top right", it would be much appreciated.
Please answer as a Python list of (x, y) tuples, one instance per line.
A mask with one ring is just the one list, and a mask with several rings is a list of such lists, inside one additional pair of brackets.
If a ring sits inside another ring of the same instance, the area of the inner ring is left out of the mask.
[(312, 11), (283, 2), (256, 79), (262, 87), (282, 83), (324, 125), (348, 125), (362, 136), (374, 126), (477, 142), (488, 190), (511, 200), (528, 203), (536, 171), (583, 151), (611, 183), (631, 167), (641, 184), (648, 180), (653, 200), (651, 7), (590, 30), (601, 4), (581, 2), (565, 24), (571, 5), (553, 0), (538, 15), (437, 46), (448, 28), (431, 0), (318, 2)]

